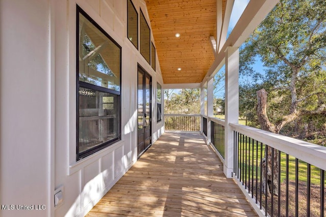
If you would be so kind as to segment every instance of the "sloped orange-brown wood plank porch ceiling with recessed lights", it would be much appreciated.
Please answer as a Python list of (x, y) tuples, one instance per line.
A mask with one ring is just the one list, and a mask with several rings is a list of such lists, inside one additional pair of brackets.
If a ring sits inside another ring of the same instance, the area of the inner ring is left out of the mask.
[(214, 61), (209, 37), (216, 39), (216, 0), (146, 0), (146, 4), (164, 83), (200, 83)]

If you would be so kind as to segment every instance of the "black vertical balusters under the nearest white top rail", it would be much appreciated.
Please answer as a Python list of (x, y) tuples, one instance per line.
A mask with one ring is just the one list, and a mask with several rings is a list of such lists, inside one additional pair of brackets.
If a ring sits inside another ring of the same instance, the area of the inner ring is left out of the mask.
[(239, 132), (233, 136), (233, 177), (265, 216), (325, 215), (324, 170)]

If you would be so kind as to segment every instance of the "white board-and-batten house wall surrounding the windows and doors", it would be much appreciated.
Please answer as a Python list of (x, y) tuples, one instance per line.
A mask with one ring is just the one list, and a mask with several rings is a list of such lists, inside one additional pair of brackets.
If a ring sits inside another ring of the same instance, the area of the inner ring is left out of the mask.
[[(143, 0), (133, 0), (143, 11)], [(76, 145), (76, 4), (122, 46), (122, 141), (79, 162)], [(137, 161), (137, 64), (152, 76), (152, 138), (156, 72), (126, 38), (127, 1), (0, 1), (0, 216), (84, 216)], [(147, 20), (149, 21), (147, 13)], [(155, 42), (154, 42), (155, 44)], [(64, 203), (54, 208), (55, 190)]]

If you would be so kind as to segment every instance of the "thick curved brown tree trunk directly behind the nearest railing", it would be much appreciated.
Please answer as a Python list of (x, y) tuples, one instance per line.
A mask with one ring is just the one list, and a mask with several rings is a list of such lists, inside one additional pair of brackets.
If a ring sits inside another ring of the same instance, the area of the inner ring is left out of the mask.
[[(258, 121), (260, 123), (260, 126), (265, 131), (278, 133), (275, 125), (273, 125), (273, 123), (271, 123), (268, 119), (266, 113), (266, 107), (267, 107), (267, 92), (265, 89), (258, 90), (257, 91), (257, 115), (258, 115)], [(269, 195), (272, 189), (274, 195), (278, 195), (278, 189), (279, 189), (279, 184), (278, 184), (279, 156), (278, 155), (279, 155), (278, 150), (274, 149), (274, 154), (273, 154), (273, 148), (266, 146), (265, 157), (261, 162), (261, 171), (263, 176), (262, 192), (265, 195)]]

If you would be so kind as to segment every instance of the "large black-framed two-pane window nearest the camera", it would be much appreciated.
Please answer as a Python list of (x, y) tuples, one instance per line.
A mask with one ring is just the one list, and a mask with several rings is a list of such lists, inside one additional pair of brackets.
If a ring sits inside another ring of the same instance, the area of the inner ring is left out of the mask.
[(77, 161), (121, 139), (121, 47), (77, 6)]

